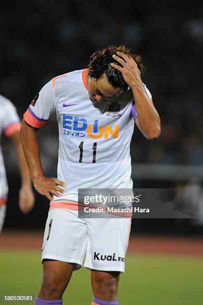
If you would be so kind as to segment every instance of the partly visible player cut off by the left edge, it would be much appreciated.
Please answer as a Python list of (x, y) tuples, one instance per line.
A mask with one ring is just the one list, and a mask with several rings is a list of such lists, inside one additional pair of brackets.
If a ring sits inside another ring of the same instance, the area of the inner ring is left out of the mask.
[[(19, 191), (19, 208), (23, 213), (29, 212), (34, 205), (31, 178), (25, 161), (20, 141), (20, 120), (13, 104), (0, 95), (0, 134), (10, 138), (15, 146), (18, 164), (21, 174), (21, 188)], [(3, 164), (3, 156), (0, 146), (0, 231), (6, 211), (7, 201), (7, 180)]]

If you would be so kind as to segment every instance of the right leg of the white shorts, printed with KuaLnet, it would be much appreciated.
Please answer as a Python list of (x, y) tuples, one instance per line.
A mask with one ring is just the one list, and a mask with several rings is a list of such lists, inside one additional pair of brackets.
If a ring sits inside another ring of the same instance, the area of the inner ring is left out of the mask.
[(130, 218), (87, 219), (88, 248), (84, 266), (98, 271), (124, 272)]

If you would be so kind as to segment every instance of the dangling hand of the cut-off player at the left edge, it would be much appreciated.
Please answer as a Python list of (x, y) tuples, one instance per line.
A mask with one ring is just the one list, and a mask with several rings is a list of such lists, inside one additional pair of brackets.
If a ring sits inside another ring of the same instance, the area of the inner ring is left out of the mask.
[(34, 194), (31, 185), (23, 185), (19, 191), (19, 208), (22, 213), (28, 213), (34, 206)]

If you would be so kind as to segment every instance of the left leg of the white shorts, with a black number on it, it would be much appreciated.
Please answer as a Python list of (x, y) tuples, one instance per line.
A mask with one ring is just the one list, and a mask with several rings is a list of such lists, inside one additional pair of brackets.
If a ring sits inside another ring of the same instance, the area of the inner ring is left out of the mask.
[(87, 225), (78, 218), (77, 211), (49, 210), (42, 245), (44, 259), (74, 263), (75, 270), (82, 265), (87, 249)]

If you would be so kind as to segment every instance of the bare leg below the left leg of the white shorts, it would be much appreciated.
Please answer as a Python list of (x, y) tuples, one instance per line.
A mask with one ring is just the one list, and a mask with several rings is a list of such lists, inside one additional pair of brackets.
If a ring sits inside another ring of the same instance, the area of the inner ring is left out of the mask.
[(71, 279), (75, 264), (44, 260), (43, 279), (35, 305), (62, 304), (63, 293)]

